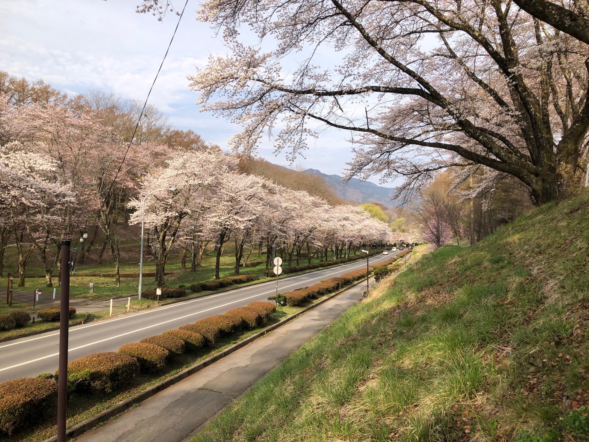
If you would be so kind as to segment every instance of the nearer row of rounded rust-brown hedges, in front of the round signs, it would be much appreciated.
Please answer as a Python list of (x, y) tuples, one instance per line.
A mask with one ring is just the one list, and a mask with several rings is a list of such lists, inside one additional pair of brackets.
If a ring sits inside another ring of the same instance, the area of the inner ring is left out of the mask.
[[(117, 352), (94, 353), (68, 363), (68, 393), (111, 392), (128, 385), (138, 372), (154, 372), (184, 352), (213, 345), (220, 337), (265, 324), (276, 311), (272, 302), (250, 302), (223, 315), (199, 319), (194, 324), (161, 335), (125, 344)], [(6, 315), (8, 316), (8, 315)], [(53, 378), (53, 380), (51, 379)], [(57, 380), (54, 375), (0, 382), (0, 434), (34, 424), (54, 407)]]

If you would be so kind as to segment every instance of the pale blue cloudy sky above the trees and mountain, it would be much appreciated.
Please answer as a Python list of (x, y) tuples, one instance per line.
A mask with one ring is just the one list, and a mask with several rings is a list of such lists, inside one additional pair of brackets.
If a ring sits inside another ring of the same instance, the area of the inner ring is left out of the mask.
[[(123, 97), (145, 100), (178, 17), (159, 22), (137, 14), (138, 0), (18, 0), (0, 2), (0, 70), (29, 80), (42, 78), (68, 94), (101, 88)], [(176, 0), (174, 6), (183, 2)], [(209, 24), (196, 21), (197, 0), (188, 0), (150, 103), (170, 117), (175, 127), (192, 129), (223, 149), (240, 126), (199, 112), (197, 94), (187, 75), (204, 67), (210, 54), (226, 54)], [(352, 159), (348, 134), (331, 129), (310, 140), (305, 168), (343, 174)], [(288, 166), (284, 153), (274, 157), (267, 138), (259, 156)], [(378, 183), (378, 179), (371, 179)], [(383, 185), (383, 184), (380, 184)], [(391, 184), (384, 184), (392, 187)]]

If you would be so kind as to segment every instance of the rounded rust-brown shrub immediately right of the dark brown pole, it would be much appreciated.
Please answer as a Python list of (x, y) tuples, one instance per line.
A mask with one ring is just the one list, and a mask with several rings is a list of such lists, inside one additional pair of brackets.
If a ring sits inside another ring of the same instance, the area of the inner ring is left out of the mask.
[[(108, 393), (128, 384), (138, 371), (137, 359), (128, 354), (93, 353), (68, 362), (68, 390)], [(59, 370), (54, 378), (59, 379)]]

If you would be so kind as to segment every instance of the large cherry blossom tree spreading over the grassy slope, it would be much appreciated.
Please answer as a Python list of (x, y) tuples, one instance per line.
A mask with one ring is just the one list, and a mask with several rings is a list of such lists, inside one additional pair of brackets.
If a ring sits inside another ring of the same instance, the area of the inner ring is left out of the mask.
[[(326, 125), (358, 143), (346, 179), (405, 177), (411, 192), (438, 170), (483, 165), (537, 204), (585, 170), (587, 47), (511, 2), (209, 0), (198, 14), (230, 54), (211, 55), (191, 87), (203, 110), (244, 124), (235, 150), (277, 127), (294, 159)], [(273, 49), (243, 44), (243, 25)], [(332, 49), (343, 61), (325, 69), (316, 54)]]

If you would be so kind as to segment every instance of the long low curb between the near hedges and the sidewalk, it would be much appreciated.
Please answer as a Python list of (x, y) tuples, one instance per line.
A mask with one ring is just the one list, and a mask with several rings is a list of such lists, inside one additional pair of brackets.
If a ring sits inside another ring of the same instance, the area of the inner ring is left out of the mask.
[[(371, 279), (374, 279), (374, 278), (371, 277)], [(309, 305), (306, 308), (302, 309), (301, 311), (296, 312), (295, 314), (292, 314), (290, 316), (287, 316), (284, 319), (281, 319), (280, 321), (276, 322), (276, 324), (272, 324), (270, 326), (267, 326), (266, 328), (264, 328), (263, 330), (260, 330), (256, 334), (253, 334), (252, 336), (250, 336), (246, 339), (243, 339), (243, 340), (237, 342), (236, 344), (231, 345), (231, 347), (227, 347), (223, 351), (220, 351), (219, 353), (214, 354), (207, 359), (204, 359), (204, 361), (198, 362), (198, 364), (194, 364), (192, 367), (188, 367), (185, 370), (179, 372), (178, 374), (175, 374), (175, 375), (167, 378), (166, 380), (161, 381), (158, 384), (155, 384), (155, 385), (147, 388), (144, 391), (141, 391), (131, 397), (128, 397), (127, 399), (121, 401), (118, 404), (112, 405), (112, 407), (108, 408), (107, 410), (102, 411), (101, 413), (98, 413), (94, 417), (91, 417), (85, 421), (82, 421), (79, 424), (74, 425), (71, 428), (68, 428), (68, 430), (65, 433), (65, 437), (70, 438), (70, 437), (80, 436), (81, 434), (85, 433), (86, 431), (94, 428), (96, 425), (109, 420), (112, 416), (123, 413), (123, 411), (127, 411), (129, 408), (133, 407), (134, 404), (138, 404), (138, 403), (152, 397), (156, 393), (158, 393), (162, 390), (165, 390), (166, 388), (170, 387), (171, 385), (176, 384), (177, 382), (180, 382), (184, 378), (187, 378), (188, 376), (190, 376), (200, 370), (203, 370), (203, 368), (208, 367), (209, 365), (213, 364), (213, 362), (217, 362), (217, 361), (219, 361), (219, 359), (226, 357), (227, 355), (233, 353), (234, 351), (237, 351), (241, 347), (245, 347), (247, 344), (255, 341), (257, 338), (263, 337), (267, 333), (279, 328), (280, 326), (286, 324), (287, 322), (290, 322), (293, 319), (296, 319), (298, 316), (305, 314), (306, 312), (314, 309), (315, 307), (323, 304), (326, 301), (329, 301), (332, 298), (335, 298), (336, 296), (340, 295), (341, 293), (343, 293), (345, 291), (348, 291), (349, 289), (355, 287), (356, 285), (359, 285), (359, 284), (365, 283), (365, 282), (366, 281), (361, 279), (360, 281), (356, 281), (355, 283), (353, 283), (352, 285), (349, 285), (348, 287), (346, 287), (344, 289), (340, 289), (339, 291), (333, 292), (331, 295), (327, 296), (325, 299), (322, 299), (321, 301), (317, 301), (317, 302), (315, 302), (315, 304)], [(46, 439), (44, 442), (57, 442), (57, 436), (50, 437), (50, 438)]]

